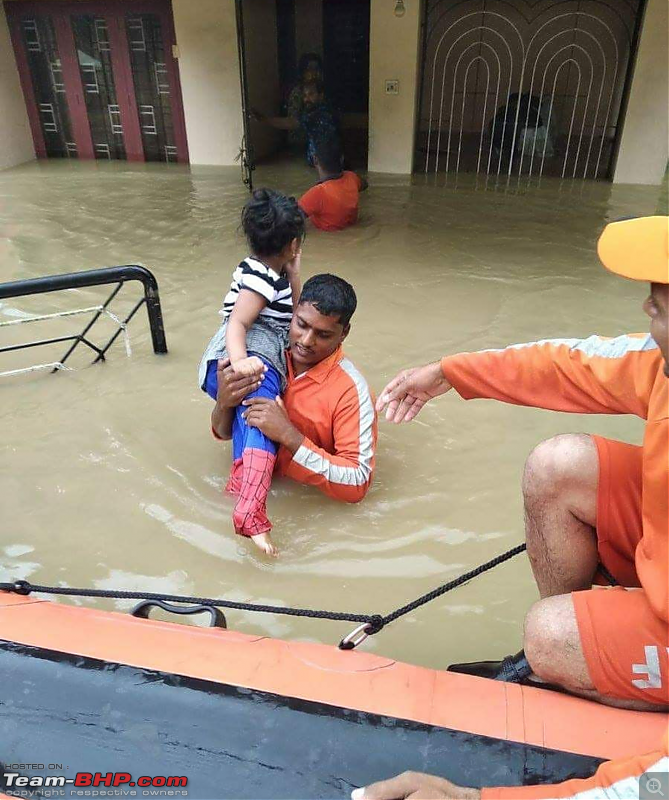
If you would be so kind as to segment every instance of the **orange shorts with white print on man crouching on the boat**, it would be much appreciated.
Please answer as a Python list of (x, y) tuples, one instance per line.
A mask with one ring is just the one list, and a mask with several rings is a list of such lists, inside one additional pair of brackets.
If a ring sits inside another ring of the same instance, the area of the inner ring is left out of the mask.
[(642, 448), (592, 438), (599, 454), (599, 558), (620, 586), (572, 594), (585, 660), (600, 694), (669, 704), (668, 626), (638, 588), (634, 567), (642, 534)]

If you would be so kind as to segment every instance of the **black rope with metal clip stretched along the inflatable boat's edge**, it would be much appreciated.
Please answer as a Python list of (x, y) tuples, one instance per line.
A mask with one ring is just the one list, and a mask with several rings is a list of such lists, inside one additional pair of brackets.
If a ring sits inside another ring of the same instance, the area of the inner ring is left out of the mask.
[(420, 606), (435, 600), (437, 597), (462, 586), (465, 583), (489, 572), (491, 569), (509, 561), (526, 549), (526, 545), (519, 544), (512, 547), (490, 561), (486, 561), (468, 572), (463, 573), (447, 583), (438, 586), (427, 594), (418, 597), (411, 603), (407, 603), (401, 608), (396, 609), (385, 616), (382, 614), (352, 614), (342, 611), (319, 611), (310, 608), (291, 608), (288, 606), (270, 606), (258, 603), (242, 603), (236, 600), (221, 600), (211, 597), (188, 597), (178, 594), (161, 594), (159, 592), (129, 592), (114, 589), (74, 589), (63, 586), (41, 586), (32, 584), (29, 581), (18, 580), (13, 582), (0, 582), (0, 590), (14, 592), (20, 595), (29, 595), (32, 592), (39, 594), (59, 594), (70, 597), (102, 597), (117, 600), (165, 600), (172, 603), (191, 603), (203, 606), (215, 606), (220, 608), (231, 608), (238, 611), (257, 611), (265, 614), (283, 614), (291, 617), (311, 617), (312, 619), (328, 619), (339, 622), (357, 622), (358, 627), (345, 636), (339, 643), (342, 650), (352, 650), (363, 642), (368, 636), (379, 633), (386, 625), (415, 611)]

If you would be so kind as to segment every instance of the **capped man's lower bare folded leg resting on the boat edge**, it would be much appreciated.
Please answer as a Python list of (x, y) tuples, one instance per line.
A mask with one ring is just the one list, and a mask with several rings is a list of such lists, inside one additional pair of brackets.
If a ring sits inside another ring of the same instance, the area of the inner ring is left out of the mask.
[(525, 618), (525, 656), (545, 683), (563, 686), (571, 694), (616, 708), (664, 711), (667, 707), (641, 700), (607, 697), (595, 689), (581, 647), (576, 612), (570, 594), (539, 600)]

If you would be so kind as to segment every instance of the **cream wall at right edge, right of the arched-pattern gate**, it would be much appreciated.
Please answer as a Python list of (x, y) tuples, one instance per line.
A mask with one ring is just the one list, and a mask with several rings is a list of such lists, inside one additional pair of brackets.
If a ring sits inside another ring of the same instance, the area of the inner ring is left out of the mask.
[(614, 183), (662, 182), (669, 158), (669, 5), (649, 0)]

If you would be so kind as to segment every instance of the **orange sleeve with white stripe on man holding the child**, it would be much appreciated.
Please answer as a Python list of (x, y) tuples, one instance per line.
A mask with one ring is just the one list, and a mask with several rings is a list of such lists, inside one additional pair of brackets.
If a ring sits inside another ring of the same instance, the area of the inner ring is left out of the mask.
[(305, 437), (284, 474), (315, 486), (334, 500), (358, 503), (372, 483), (377, 438), (376, 411), (366, 385), (352, 385), (344, 393), (332, 426), (334, 453)]

